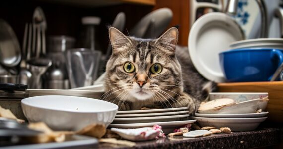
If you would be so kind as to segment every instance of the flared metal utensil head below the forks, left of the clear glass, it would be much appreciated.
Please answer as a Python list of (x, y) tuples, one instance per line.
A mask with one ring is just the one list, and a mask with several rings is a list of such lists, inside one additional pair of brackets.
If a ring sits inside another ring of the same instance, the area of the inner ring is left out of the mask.
[(32, 74), (32, 82), (29, 88), (41, 88), (41, 76), (52, 65), (52, 61), (46, 58), (34, 58), (27, 61)]

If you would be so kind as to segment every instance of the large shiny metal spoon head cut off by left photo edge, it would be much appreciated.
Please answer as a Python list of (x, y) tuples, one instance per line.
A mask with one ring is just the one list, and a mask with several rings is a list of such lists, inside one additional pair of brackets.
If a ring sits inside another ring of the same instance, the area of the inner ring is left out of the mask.
[(11, 26), (0, 19), (0, 63), (6, 67), (14, 67), (21, 60), (21, 49), (17, 36)]

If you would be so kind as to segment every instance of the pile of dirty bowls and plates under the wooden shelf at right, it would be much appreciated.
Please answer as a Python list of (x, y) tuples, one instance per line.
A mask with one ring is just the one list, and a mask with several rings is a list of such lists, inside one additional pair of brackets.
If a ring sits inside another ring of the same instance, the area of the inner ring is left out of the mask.
[(255, 130), (267, 119), (268, 93), (210, 93), (193, 119), (201, 127), (229, 127), (232, 132)]

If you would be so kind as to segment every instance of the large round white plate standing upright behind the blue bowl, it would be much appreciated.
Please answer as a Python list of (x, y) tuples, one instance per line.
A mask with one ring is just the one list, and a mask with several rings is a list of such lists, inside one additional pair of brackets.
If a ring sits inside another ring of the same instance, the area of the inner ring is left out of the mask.
[(228, 15), (212, 12), (201, 16), (192, 26), (188, 45), (192, 62), (205, 78), (223, 82), (219, 53), (232, 42), (244, 40), (240, 26)]

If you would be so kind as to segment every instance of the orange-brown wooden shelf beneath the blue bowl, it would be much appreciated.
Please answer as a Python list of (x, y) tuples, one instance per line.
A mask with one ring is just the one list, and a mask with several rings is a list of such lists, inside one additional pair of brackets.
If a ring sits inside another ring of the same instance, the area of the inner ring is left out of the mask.
[(283, 81), (219, 83), (219, 92), (268, 92), (268, 120), (283, 123)]

